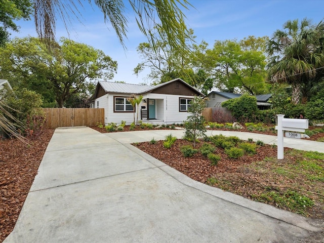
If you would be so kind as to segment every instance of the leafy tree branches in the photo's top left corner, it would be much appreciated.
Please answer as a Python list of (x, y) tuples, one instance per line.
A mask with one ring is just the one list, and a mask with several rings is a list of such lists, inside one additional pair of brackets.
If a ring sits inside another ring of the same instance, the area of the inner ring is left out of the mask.
[(0, 46), (9, 41), (10, 31), (19, 31), (15, 20), (29, 20), (32, 2), (29, 0), (1, 1), (0, 4)]

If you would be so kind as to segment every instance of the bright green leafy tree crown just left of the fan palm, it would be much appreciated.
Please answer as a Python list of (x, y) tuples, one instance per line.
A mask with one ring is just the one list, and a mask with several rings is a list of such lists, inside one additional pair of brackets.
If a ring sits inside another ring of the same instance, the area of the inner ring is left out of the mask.
[(263, 94), (267, 90), (265, 44), (267, 37), (249, 36), (240, 41), (215, 41), (213, 49), (200, 44), (197, 56), (203, 70), (223, 92)]

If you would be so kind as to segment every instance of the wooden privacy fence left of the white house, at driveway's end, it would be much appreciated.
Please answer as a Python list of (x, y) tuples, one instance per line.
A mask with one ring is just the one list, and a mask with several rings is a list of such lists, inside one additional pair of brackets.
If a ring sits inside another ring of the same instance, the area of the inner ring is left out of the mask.
[(44, 108), (46, 128), (96, 126), (104, 124), (103, 108)]

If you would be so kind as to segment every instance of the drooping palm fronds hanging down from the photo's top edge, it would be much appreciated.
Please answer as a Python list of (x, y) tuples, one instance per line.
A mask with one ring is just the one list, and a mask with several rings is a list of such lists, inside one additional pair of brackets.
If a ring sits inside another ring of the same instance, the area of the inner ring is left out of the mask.
[[(95, 4), (104, 15), (105, 22), (110, 22), (115, 30), (119, 42), (124, 48), (124, 38), (127, 37), (128, 20), (125, 16), (125, 0), (88, 0)], [(82, 0), (33, 0), (34, 20), (36, 32), (48, 45), (55, 43), (55, 22), (56, 17), (61, 17), (65, 26), (71, 23), (69, 14), (72, 13), (77, 19), (80, 12), (78, 6), (83, 7)], [(136, 22), (142, 33), (148, 37), (149, 42), (154, 46), (154, 27), (163, 29), (159, 35), (167, 35), (169, 45), (174, 50), (187, 49), (186, 38), (190, 38), (185, 25), (185, 16), (181, 8), (192, 7), (188, 0), (129, 0), (129, 3), (136, 15)], [(158, 21), (159, 20), (159, 21)]]

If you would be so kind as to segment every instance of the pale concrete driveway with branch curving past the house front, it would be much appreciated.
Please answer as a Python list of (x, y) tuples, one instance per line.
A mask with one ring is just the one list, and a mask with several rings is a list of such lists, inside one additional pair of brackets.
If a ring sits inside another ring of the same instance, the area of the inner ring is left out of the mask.
[[(297, 242), (324, 225), (196, 182), (130, 145), (182, 130), (56, 129), (4, 242)], [(276, 143), (275, 136), (209, 131)], [(285, 138), (299, 149), (323, 143)]]

